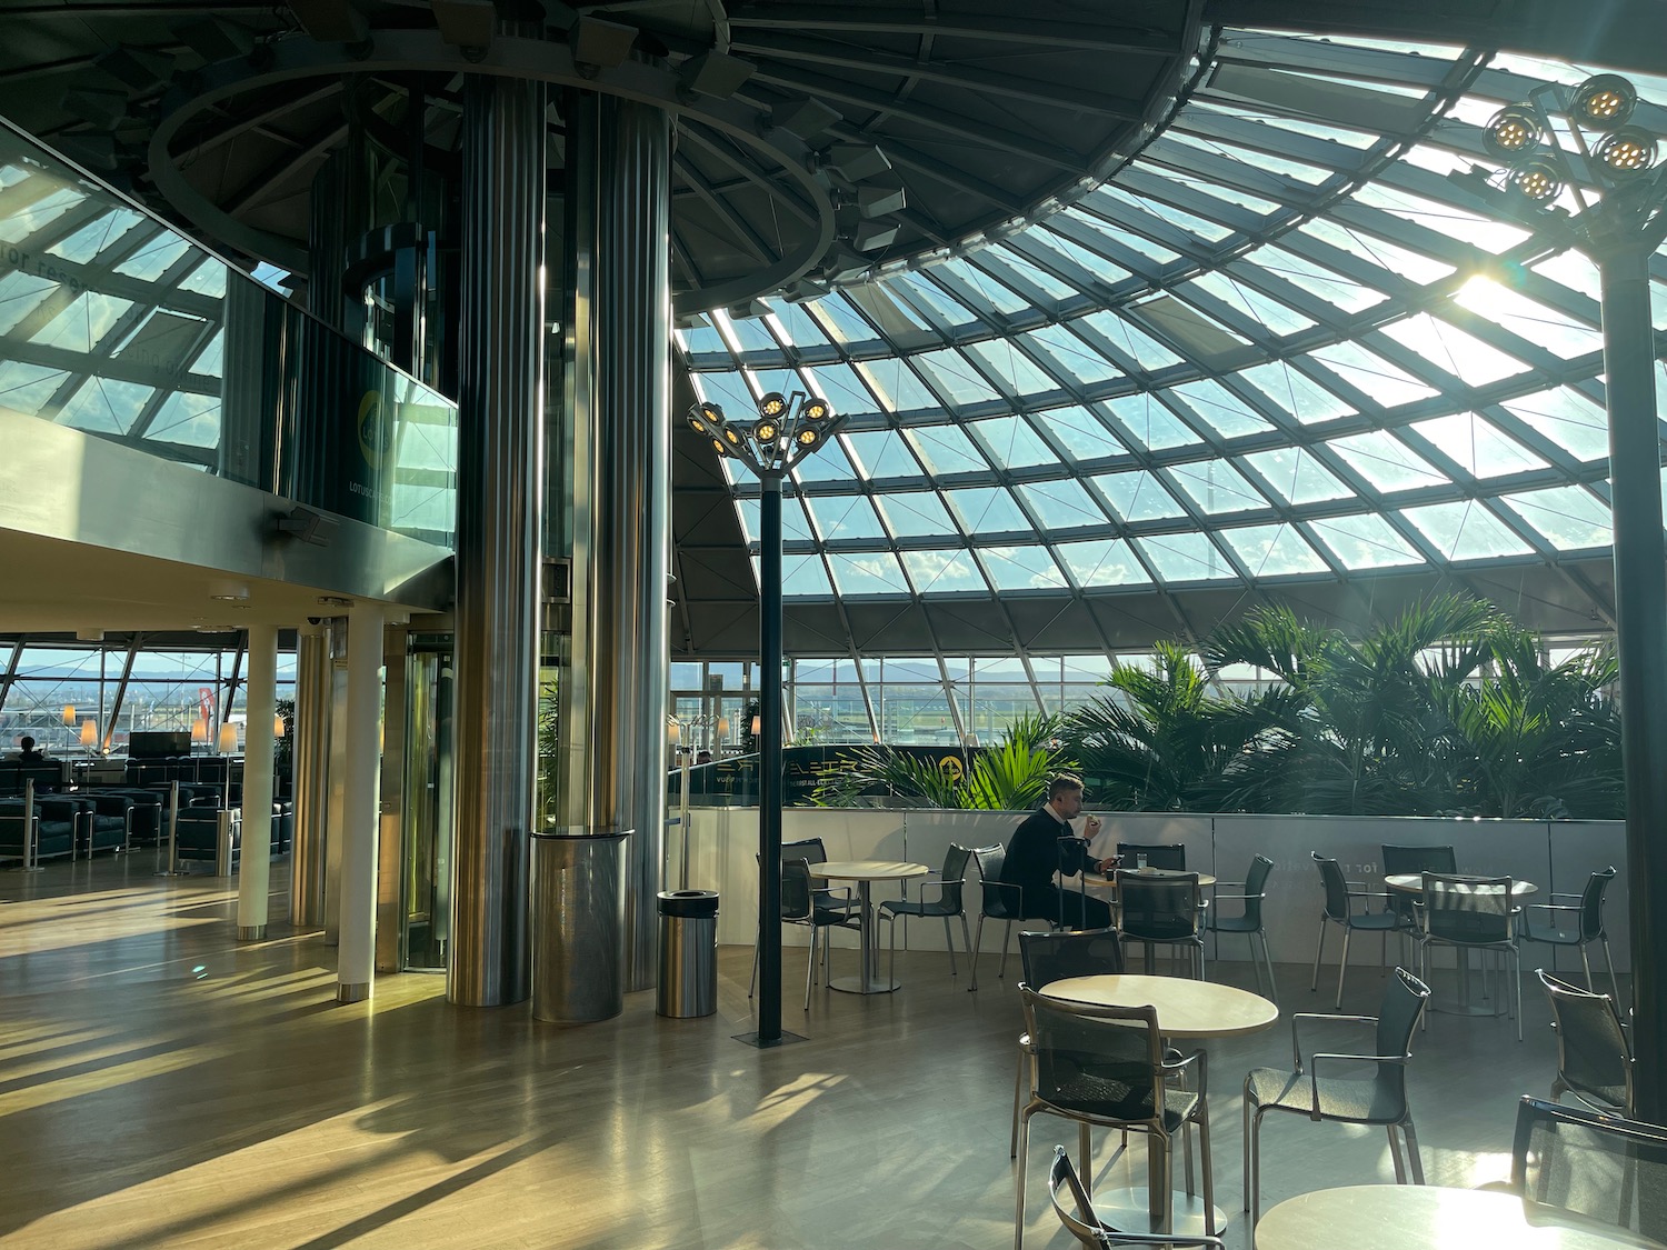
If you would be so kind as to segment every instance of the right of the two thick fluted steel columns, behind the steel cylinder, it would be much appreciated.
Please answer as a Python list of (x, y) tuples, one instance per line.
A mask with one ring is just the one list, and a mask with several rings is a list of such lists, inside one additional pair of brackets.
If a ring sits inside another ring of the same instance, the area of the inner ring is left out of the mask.
[(642, 990), (657, 968), (665, 842), (670, 118), (575, 92), (567, 178), (573, 632), (562, 798), (570, 825), (635, 830), (623, 970), (625, 988)]

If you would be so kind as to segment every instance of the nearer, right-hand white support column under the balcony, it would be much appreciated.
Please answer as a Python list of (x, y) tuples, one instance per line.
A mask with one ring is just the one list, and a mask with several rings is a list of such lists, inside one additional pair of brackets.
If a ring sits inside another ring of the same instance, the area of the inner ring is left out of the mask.
[(377, 825), (382, 755), (382, 605), (347, 617), (347, 785), (342, 797), (342, 940), (335, 1000), (370, 997), (377, 950)]

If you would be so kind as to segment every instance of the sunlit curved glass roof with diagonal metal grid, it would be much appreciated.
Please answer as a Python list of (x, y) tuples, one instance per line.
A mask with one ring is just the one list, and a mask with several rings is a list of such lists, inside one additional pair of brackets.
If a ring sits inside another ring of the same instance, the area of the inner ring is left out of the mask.
[[(803, 390), (847, 418), (785, 500), (785, 595), (1150, 593), (1600, 553), (1597, 268), (1447, 177), (1492, 167), (1497, 108), (1590, 72), (1224, 30), (1172, 122), (1075, 203), (685, 327), (698, 398), (745, 415)], [(1667, 132), (1667, 110), (1637, 122)], [(757, 552), (757, 483), (725, 472)]]

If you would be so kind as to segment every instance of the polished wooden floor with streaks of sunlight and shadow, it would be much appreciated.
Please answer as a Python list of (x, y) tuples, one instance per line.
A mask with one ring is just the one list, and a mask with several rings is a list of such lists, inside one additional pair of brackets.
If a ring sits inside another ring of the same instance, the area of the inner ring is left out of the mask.
[[(338, 1007), (335, 952), (282, 923), (280, 865), (275, 937), (252, 945), (232, 938), (228, 882), (152, 868), (142, 852), (0, 872), (0, 1245), (1012, 1243), (1017, 962), (1002, 982), (987, 957), (967, 993), (965, 967), (952, 980), (942, 955), (905, 955), (902, 992), (818, 987), (803, 1013), (790, 948), (785, 1020), (808, 1040), (767, 1052), (732, 1040), (752, 1027), (742, 948), (723, 948), (703, 1020), (662, 1020), (645, 992), (617, 1020), (555, 1028), (525, 1005), (450, 1007), (428, 975)], [(1280, 968), (1285, 1008), (1329, 1010), (1307, 972)], [(1250, 965), (1212, 977), (1249, 985)], [(1345, 1010), (1374, 1010), (1382, 977), (1352, 968)], [(1554, 1062), (1547, 1008), (1524, 1000), (1520, 1045), (1504, 1020), (1455, 1017), (1415, 1040), (1432, 1183), (1507, 1173), (1515, 1098), (1544, 1095)], [(1289, 1047), (1284, 1022), (1209, 1047), (1230, 1247), (1247, 1245), (1244, 1072), (1289, 1063)], [(1027, 1245), (1072, 1245), (1044, 1178), (1075, 1128), (1034, 1125)], [(1102, 1187), (1139, 1183), (1129, 1155)], [(1390, 1178), (1382, 1130), (1265, 1122), (1265, 1205)]]

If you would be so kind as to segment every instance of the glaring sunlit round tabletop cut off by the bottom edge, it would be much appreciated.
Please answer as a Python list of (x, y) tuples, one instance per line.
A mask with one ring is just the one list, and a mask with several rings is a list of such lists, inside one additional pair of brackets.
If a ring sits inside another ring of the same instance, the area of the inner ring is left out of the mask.
[[(1540, 1208), (1542, 1212), (1545, 1208)], [(1619, 1230), (1617, 1230), (1619, 1233)], [(1522, 1198), (1440, 1185), (1345, 1185), (1274, 1207), (1255, 1250), (1614, 1250), (1637, 1242), (1585, 1228), (1529, 1223)]]

